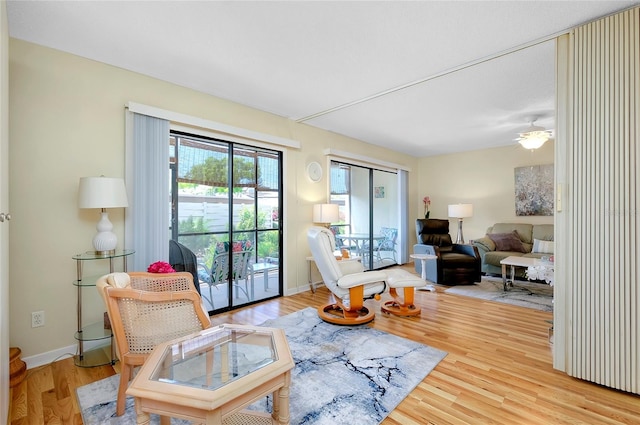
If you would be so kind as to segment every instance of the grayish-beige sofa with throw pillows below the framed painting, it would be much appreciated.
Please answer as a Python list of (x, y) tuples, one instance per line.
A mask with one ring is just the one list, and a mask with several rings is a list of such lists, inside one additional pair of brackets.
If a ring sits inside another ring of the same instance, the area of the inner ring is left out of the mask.
[[(496, 223), (487, 234), (472, 242), (482, 259), (482, 272), (502, 275), (500, 261), (510, 256), (542, 258), (553, 255), (553, 224)], [(525, 277), (517, 268), (516, 277)]]

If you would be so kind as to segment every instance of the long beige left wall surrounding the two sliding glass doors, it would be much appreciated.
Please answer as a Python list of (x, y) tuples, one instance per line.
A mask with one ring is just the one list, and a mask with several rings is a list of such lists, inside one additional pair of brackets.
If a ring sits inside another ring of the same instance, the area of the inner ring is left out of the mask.
[[(296, 124), (219, 98), (19, 40), (10, 40), (10, 342), (23, 357), (75, 344), (74, 254), (91, 249), (98, 212), (77, 208), (81, 176), (124, 175), (124, 105), (147, 104), (181, 114), (298, 140), (285, 164), (286, 291), (306, 290), (306, 228), (311, 206), (326, 201), (325, 178), (310, 182), (310, 161), (325, 164), (334, 148), (417, 168), (417, 160), (363, 142)], [(417, 193), (417, 177), (410, 187)], [(415, 193), (412, 194), (415, 197)], [(414, 213), (415, 214), (415, 213)], [(123, 241), (123, 213), (109, 216)], [(122, 245), (121, 245), (122, 246)], [(106, 265), (85, 266), (85, 276)], [(104, 308), (86, 290), (84, 316)], [(31, 312), (46, 325), (31, 328)]]

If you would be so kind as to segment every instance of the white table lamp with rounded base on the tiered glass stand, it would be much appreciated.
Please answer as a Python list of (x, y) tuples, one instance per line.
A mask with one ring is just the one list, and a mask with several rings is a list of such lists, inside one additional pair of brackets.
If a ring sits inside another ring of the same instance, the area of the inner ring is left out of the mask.
[(111, 255), (115, 252), (118, 238), (112, 232), (107, 208), (129, 206), (124, 180), (111, 177), (81, 177), (78, 187), (79, 208), (100, 208), (100, 221), (96, 225), (98, 233), (93, 237), (93, 248), (97, 255)]

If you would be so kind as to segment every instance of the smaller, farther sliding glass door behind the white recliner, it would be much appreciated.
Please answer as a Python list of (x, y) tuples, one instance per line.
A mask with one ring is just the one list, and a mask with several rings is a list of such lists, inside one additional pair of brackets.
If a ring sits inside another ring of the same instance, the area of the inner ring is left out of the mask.
[(331, 162), (330, 202), (340, 206), (340, 222), (333, 223), (336, 242), (367, 270), (397, 264), (397, 182), (394, 172)]

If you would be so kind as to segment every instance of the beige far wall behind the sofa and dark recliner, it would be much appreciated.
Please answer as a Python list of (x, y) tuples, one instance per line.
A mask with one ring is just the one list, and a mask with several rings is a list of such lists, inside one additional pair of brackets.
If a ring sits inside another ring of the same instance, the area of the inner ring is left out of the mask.
[[(431, 218), (448, 218), (449, 204), (473, 204), (473, 217), (464, 219), (466, 241), (485, 235), (497, 222), (553, 223), (553, 217), (519, 217), (515, 212), (514, 168), (553, 164), (554, 143), (529, 151), (513, 146), (441, 155), (420, 160), (418, 196), (414, 211), (422, 213), (424, 196), (431, 197)], [(457, 219), (450, 219), (452, 238), (458, 232)], [(414, 235), (415, 239), (415, 235)]]

